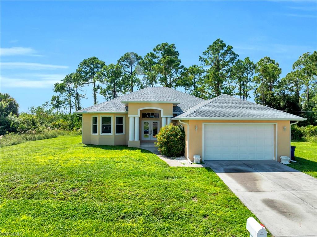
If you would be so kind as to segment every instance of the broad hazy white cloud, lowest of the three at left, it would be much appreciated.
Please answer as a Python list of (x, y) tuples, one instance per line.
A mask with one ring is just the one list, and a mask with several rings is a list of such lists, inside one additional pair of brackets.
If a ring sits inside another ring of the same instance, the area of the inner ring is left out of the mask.
[[(20, 88), (53, 88), (65, 75), (62, 74), (26, 74), (25, 78), (1, 76), (1, 86)], [(35, 80), (31, 80), (30, 78)]]

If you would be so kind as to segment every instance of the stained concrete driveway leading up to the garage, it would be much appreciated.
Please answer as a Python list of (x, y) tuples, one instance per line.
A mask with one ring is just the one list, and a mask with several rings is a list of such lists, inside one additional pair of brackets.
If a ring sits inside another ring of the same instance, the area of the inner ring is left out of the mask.
[(273, 160), (205, 161), (274, 236), (317, 236), (317, 179)]

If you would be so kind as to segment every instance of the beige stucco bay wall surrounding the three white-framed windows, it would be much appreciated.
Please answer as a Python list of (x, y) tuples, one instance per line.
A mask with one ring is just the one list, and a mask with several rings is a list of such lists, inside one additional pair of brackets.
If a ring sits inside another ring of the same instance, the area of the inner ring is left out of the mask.
[[(101, 127), (101, 116), (107, 115), (112, 116), (112, 135), (102, 135), (100, 133)], [(98, 117), (98, 134), (92, 134), (92, 117)], [(125, 117), (125, 125), (124, 131), (125, 134), (117, 134), (115, 135), (115, 117), (116, 116), (124, 116)], [(83, 125), (82, 125), (82, 143), (83, 144), (94, 144), (94, 145), (127, 145), (127, 136), (129, 131), (129, 121), (127, 114), (110, 114), (110, 113), (96, 113), (96, 114), (83, 114)]]

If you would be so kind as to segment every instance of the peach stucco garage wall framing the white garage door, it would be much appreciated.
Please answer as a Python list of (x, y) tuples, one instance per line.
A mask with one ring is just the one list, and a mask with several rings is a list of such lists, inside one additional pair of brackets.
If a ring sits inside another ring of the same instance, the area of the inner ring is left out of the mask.
[[(289, 121), (258, 121), (258, 120), (181, 120), (182, 122), (189, 123), (189, 158), (193, 161), (194, 155), (202, 154), (202, 129), (203, 123), (277, 123), (277, 158), (280, 161), (281, 156), (290, 156), (290, 122)], [(187, 126), (182, 124), (187, 133)], [(197, 126), (197, 131), (195, 131), (195, 126)], [(283, 127), (286, 127), (286, 131), (283, 130)], [(276, 132), (276, 128), (275, 128)], [(186, 134), (187, 136), (187, 134)], [(185, 147), (185, 156), (187, 157), (187, 137), (186, 147)], [(275, 138), (274, 138), (275, 139)], [(276, 149), (276, 147), (275, 147)]]

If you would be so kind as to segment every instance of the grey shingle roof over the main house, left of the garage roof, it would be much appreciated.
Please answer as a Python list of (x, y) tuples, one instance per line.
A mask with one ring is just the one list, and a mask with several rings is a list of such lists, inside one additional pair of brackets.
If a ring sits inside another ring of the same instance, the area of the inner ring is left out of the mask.
[(204, 99), (185, 94), (183, 92), (168, 87), (146, 87), (139, 91), (126, 94), (115, 99), (108, 100), (98, 105), (90, 106), (75, 113), (93, 113), (93, 112), (126, 112), (128, 107), (121, 101), (171, 101), (180, 102), (173, 106), (173, 113), (183, 113), (189, 108), (199, 104)]

